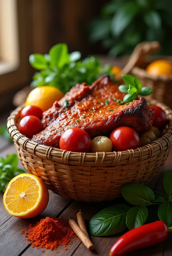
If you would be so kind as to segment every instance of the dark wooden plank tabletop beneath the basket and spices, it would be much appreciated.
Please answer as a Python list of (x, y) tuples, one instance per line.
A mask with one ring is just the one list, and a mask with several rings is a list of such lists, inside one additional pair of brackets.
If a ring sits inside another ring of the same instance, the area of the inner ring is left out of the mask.
[[(4, 121), (4, 118), (0, 118), (0, 123)], [(15, 147), (9, 145), (3, 138), (0, 138), (0, 155), (6, 157), (7, 154), (15, 153)], [(21, 164), (19, 163), (21, 167)], [(172, 150), (170, 151), (169, 157), (161, 173), (153, 178), (150, 183), (150, 187), (162, 192), (163, 173), (169, 169), (172, 169)], [(120, 199), (118, 200), (120, 201)], [(32, 248), (28, 245), (25, 237), (21, 235), (21, 229), (26, 230), (29, 223), (34, 223), (40, 218), (45, 216), (63, 216), (67, 220), (69, 216), (76, 220), (76, 214), (79, 209), (82, 210), (86, 224), (89, 220), (102, 208), (108, 205), (115, 204), (113, 202), (103, 203), (85, 203), (76, 202), (62, 198), (61, 196), (55, 195), (50, 191), (50, 200), (46, 210), (33, 219), (19, 219), (9, 215), (3, 206), (3, 194), (0, 194), (0, 256), (108, 256), (108, 252), (112, 244), (118, 239), (119, 236), (114, 237), (93, 237), (90, 236), (91, 241), (95, 245), (95, 251), (88, 251), (81, 241), (77, 238), (73, 240), (73, 244), (67, 245), (67, 250), (63, 246), (59, 246), (59, 253), (56, 251), (45, 250), (42, 254), (41, 249)], [(172, 255), (172, 235), (170, 234), (168, 239), (163, 243), (158, 244), (151, 248), (142, 249), (139, 251), (131, 252), (126, 256), (169, 256)]]

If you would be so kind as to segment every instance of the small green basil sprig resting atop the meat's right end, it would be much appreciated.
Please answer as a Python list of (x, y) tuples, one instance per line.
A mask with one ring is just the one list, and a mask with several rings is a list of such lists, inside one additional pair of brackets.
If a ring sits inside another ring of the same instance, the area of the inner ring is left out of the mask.
[(142, 87), (138, 77), (126, 74), (122, 75), (122, 78), (126, 85), (120, 85), (118, 89), (122, 93), (127, 93), (123, 98), (123, 103), (133, 101), (137, 95), (148, 96), (153, 92), (149, 87)]

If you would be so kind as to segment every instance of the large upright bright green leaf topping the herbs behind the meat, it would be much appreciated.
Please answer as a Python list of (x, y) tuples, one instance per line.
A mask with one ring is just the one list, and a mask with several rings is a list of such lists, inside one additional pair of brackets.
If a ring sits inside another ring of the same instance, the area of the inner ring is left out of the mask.
[(69, 53), (67, 44), (56, 44), (49, 50), (50, 63), (53, 67), (61, 68), (66, 62), (69, 62)]

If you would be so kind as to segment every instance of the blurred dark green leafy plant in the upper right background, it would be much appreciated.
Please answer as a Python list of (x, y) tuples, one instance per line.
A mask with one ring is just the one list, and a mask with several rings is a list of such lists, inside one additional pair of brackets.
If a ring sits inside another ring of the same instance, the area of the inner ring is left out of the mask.
[(90, 24), (90, 40), (101, 41), (110, 56), (130, 54), (141, 41), (157, 40), (172, 54), (171, 0), (111, 0)]

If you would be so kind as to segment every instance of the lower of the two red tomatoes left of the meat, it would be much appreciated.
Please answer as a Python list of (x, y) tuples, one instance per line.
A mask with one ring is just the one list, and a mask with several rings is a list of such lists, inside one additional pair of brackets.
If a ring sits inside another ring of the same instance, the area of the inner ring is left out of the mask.
[(21, 119), (18, 129), (20, 133), (32, 139), (34, 134), (39, 133), (43, 130), (41, 120), (33, 115), (28, 115)]

